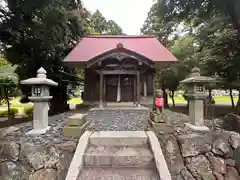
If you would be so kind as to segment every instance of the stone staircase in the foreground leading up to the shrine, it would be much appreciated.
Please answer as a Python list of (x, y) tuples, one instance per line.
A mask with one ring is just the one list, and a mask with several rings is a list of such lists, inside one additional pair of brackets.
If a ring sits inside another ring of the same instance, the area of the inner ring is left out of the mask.
[(75, 154), (72, 161), (78, 167), (70, 166), (66, 180), (171, 180), (170, 174), (159, 175), (157, 162), (163, 159), (156, 161), (144, 131), (94, 132), (84, 144), (82, 156)]

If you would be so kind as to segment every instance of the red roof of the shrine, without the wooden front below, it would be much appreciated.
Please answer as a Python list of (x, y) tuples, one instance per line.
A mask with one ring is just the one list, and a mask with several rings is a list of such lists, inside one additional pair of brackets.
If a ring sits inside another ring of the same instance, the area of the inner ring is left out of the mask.
[(177, 61), (154, 36), (128, 35), (87, 35), (63, 60), (64, 62), (85, 62), (107, 51), (117, 48), (121, 43), (127, 50), (134, 51), (156, 62)]

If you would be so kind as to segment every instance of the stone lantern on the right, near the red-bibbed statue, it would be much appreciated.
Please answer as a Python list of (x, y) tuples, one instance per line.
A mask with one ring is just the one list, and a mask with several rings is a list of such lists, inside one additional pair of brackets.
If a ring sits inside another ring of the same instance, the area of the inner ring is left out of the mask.
[(187, 90), (185, 96), (189, 100), (189, 118), (192, 122), (186, 123), (187, 127), (198, 131), (209, 130), (204, 124), (204, 100), (208, 96), (206, 85), (213, 82), (216, 82), (216, 79), (201, 76), (200, 69), (197, 67), (192, 69), (187, 79), (181, 81)]

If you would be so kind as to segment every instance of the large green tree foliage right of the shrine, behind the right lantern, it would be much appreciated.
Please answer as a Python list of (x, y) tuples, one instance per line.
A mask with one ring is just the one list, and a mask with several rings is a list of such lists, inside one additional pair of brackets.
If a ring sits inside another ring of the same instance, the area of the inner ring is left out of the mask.
[(176, 65), (158, 72), (163, 89), (174, 91), (194, 66), (203, 75), (217, 73), (223, 80), (218, 86), (230, 92), (239, 89), (239, 10), (238, 0), (155, 2), (141, 32), (157, 36), (179, 59)]

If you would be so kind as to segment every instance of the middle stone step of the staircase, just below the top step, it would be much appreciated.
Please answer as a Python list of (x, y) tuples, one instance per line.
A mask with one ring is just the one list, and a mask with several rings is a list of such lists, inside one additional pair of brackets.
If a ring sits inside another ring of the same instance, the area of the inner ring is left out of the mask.
[(147, 147), (90, 146), (84, 154), (85, 166), (154, 166), (154, 159)]

